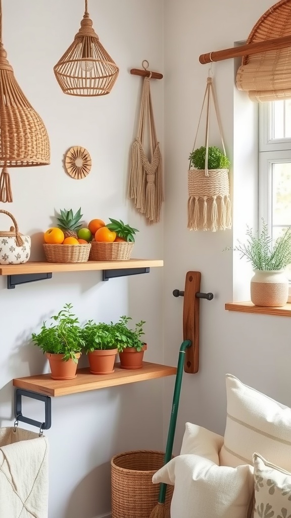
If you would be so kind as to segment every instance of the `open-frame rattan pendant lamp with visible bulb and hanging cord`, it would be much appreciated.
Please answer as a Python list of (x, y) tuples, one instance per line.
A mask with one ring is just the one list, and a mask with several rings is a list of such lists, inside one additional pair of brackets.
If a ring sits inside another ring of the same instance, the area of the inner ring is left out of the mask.
[(79, 32), (53, 70), (61, 89), (68, 95), (106, 95), (117, 80), (119, 68), (100, 44), (93, 29), (88, 0), (85, 0)]

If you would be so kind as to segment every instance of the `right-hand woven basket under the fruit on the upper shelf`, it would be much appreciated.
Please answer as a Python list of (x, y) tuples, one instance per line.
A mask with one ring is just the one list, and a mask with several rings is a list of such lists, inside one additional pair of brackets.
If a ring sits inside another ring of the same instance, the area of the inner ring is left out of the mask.
[(130, 259), (134, 243), (128, 241), (116, 241), (104, 243), (92, 241), (90, 261), (126, 261)]

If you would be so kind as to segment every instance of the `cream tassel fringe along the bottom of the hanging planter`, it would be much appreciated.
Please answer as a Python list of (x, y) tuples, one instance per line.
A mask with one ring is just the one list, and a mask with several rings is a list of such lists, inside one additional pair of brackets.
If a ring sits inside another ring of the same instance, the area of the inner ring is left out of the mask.
[[(217, 203), (217, 199), (219, 200)], [(231, 204), (229, 196), (189, 196), (188, 229), (216, 232), (231, 228)]]

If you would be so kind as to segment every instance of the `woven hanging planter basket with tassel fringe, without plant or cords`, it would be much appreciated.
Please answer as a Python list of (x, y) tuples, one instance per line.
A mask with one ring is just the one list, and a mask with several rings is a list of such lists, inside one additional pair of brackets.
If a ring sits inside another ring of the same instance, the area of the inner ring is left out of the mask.
[(231, 228), (228, 169), (188, 171), (188, 228), (225, 230)]

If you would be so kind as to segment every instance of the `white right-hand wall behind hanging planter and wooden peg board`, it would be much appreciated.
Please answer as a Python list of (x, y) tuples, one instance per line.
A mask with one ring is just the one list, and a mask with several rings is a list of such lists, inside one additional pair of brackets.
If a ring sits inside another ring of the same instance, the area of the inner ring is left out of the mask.
[[(233, 300), (233, 293), (235, 300), (249, 299), (251, 272), (238, 257), (233, 267), (231, 252), (223, 252), (223, 249), (232, 246), (233, 237), (236, 239), (240, 235), (243, 238), (245, 223), (250, 219), (254, 221), (256, 215), (253, 210), (256, 170), (250, 160), (251, 153), (255, 164), (256, 134), (252, 127), (255, 108), (250, 107), (245, 94), (236, 91), (237, 61), (234, 60), (212, 65), (227, 153), (234, 164), (230, 171), (234, 229), (217, 233), (187, 230), (188, 156), (193, 148), (210, 68), (199, 63), (199, 55), (245, 40), (259, 17), (273, 3), (272, 0), (167, 0), (164, 3), (167, 362), (175, 361), (182, 341), (183, 300), (171, 296), (172, 290), (183, 290), (186, 272), (198, 270), (201, 272), (201, 291), (214, 293), (212, 301), (200, 301), (200, 367), (197, 374), (184, 374), (175, 453), (181, 445), (185, 421), (223, 434), (227, 372), (282, 403), (290, 404), (289, 319), (224, 309), (224, 304)], [(244, 107), (243, 103), (246, 103)], [(211, 121), (211, 145), (220, 145), (214, 117)], [(203, 132), (197, 142), (199, 146), (204, 145)], [(171, 387), (165, 393), (165, 405), (170, 394)], [(165, 428), (168, 421), (169, 416), (165, 414)]]

